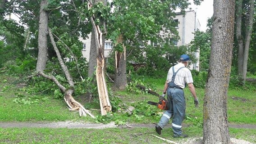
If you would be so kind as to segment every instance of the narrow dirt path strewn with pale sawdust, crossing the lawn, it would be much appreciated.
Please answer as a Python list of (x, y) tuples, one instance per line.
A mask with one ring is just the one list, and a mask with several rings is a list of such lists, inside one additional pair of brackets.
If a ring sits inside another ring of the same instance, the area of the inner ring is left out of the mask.
[[(188, 125), (183, 125), (184, 127)], [(111, 122), (109, 124), (95, 124), (95, 123), (80, 123), (80, 122), (73, 122), (73, 121), (60, 121), (60, 122), (0, 122), (1, 128), (22, 128), (22, 127), (37, 127), (37, 128), (94, 128), (94, 129), (104, 129), (104, 128), (133, 128), (133, 127), (148, 127), (148, 128), (154, 128), (155, 124), (127, 124), (123, 126), (117, 126), (114, 124), (114, 122)], [(170, 124), (168, 124), (166, 127), (171, 127)], [(252, 124), (229, 124), (229, 127), (232, 128), (245, 128), (245, 129), (256, 129), (256, 125)]]

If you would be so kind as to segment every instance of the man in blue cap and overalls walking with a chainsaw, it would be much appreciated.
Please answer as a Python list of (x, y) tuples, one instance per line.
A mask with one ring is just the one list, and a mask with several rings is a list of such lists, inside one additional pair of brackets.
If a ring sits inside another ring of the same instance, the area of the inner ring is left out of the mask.
[(190, 58), (187, 54), (183, 54), (179, 58), (179, 63), (169, 69), (167, 80), (165, 81), (165, 88), (161, 99), (164, 99), (167, 93), (168, 110), (166, 110), (161, 117), (159, 123), (155, 126), (155, 131), (161, 135), (161, 130), (167, 125), (169, 119), (173, 117), (172, 128), (174, 137), (187, 137), (182, 133), (182, 121), (185, 117), (186, 101), (184, 97), (183, 88), (185, 84), (194, 97), (194, 103), (198, 105), (197, 94), (193, 85), (193, 78), (187, 65)]

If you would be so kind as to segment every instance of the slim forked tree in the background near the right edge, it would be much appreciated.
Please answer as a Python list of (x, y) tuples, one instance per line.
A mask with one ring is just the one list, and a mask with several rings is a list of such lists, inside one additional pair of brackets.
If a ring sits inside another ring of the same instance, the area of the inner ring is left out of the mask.
[(238, 41), (238, 78), (244, 85), (254, 18), (255, 0), (236, 1), (236, 39)]

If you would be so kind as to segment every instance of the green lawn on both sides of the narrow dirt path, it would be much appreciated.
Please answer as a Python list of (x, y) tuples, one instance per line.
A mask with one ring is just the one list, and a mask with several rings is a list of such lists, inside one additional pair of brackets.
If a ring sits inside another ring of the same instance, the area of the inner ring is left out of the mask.
[[(143, 83), (149, 88), (161, 94), (165, 78), (143, 78)], [(193, 97), (187, 88), (184, 89), (186, 97), (186, 116), (183, 121), (184, 133), (191, 137), (202, 136), (203, 125), (203, 98), (204, 89), (196, 88), (199, 98), (199, 107), (195, 108)], [(53, 95), (28, 95), (22, 89), (14, 85), (14, 80), (8, 76), (0, 75), (0, 121), (82, 121), (82, 122), (103, 122), (115, 121), (117, 124), (141, 123), (153, 124), (160, 120), (161, 111), (155, 106), (147, 104), (147, 101), (158, 101), (152, 94), (138, 92), (132, 93), (128, 90), (113, 91), (123, 103), (119, 104), (118, 112), (101, 117), (101, 113), (91, 110), (97, 119), (90, 116), (79, 117), (78, 113), (70, 112), (66, 107), (64, 99), (54, 99)], [(253, 90), (229, 90), (228, 92), (228, 121), (235, 124), (256, 124), (256, 92)], [(81, 102), (81, 97), (75, 97)], [(16, 103), (15, 103), (16, 102)], [(82, 102), (87, 109), (99, 109), (98, 99), (91, 103)], [(133, 114), (125, 110), (135, 107)], [(229, 128), (230, 135), (235, 138), (245, 139), (256, 143), (256, 130)], [(77, 143), (77, 144), (148, 144), (164, 143), (150, 134), (155, 135), (154, 128), (108, 128), (97, 129), (50, 129), (50, 128), (0, 128), (0, 143)], [(163, 130), (161, 137), (174, 140), (172, 129)], [(176, 140), (178, 141), (178, 140)]]

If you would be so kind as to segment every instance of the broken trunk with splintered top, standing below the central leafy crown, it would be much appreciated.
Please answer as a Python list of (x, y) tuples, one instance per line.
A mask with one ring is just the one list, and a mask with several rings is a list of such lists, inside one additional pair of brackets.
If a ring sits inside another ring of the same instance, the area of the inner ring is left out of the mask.
[[(123, 37), (119, 36), (117, 42), (123, 44)], [(126, 48), (123, 45), (123, 52), (115, 51), (115, 78), (114, 87), (123, 90), (127, 85), (126, 77)]]

